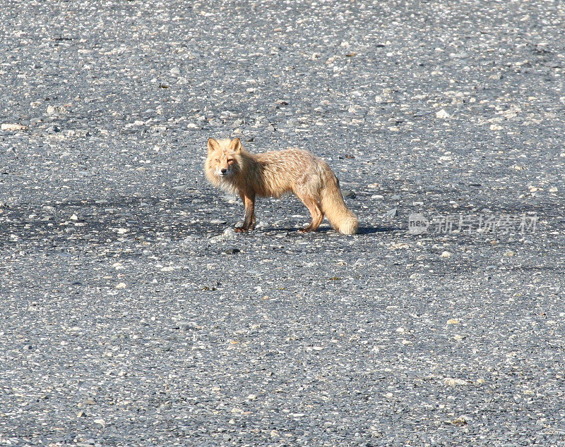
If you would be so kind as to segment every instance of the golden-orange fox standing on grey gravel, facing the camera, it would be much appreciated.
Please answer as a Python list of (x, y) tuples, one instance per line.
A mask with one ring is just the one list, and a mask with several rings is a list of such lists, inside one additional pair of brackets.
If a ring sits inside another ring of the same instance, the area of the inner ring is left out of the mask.
[(256, 225), (256, 197), (280, 197), (292, 192), (307, 207), (311, 222), (299, 233), (316, 231), (326, 216), (335, 231), (355, 234), (357, 216), (347, 208), (340, 183), (330, 166), (304, 149), (251, 154), (239, 138), (208, 139), (208, 156), (204, 166), (206, 178), (214, 186), (237, 194), (245, 207), (242, 226), (234, 231), (253, 231)]

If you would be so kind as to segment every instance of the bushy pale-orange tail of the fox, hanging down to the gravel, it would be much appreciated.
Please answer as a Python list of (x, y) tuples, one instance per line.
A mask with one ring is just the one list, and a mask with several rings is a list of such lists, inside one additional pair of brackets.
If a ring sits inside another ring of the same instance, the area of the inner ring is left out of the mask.
[(332, 175), (331, 178), (326, 178), (320, 196), (322, 212), (326, 214), (335, 231), (339, 231), (342, 234), (357, 233), (359, 221), (355, 214), (345, 205), (338, 179), (335, 176)]

